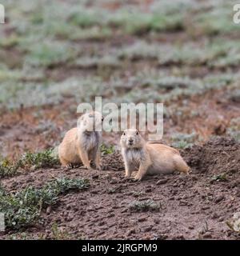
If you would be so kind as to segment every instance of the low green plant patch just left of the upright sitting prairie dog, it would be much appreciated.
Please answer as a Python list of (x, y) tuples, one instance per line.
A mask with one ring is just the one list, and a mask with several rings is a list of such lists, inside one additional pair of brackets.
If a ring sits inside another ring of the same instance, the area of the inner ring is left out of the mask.
[(54, 150), (44, 150), (38, 153), (27, 152), (21, 158), (22, 166), (33, 170), (39, 168), (50, 168), (58, 165), (58, 158), (54, 156)]

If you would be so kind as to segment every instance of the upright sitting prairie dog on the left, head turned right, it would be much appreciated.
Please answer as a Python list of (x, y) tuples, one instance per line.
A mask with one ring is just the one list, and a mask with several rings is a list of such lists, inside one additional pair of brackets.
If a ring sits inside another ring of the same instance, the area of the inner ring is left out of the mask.
[(62, 166), (72, 166), (83, 163), (90, 169), (93, 160), (98, 170), (100, 167), (100, 145), (102, 133), (94, 127), (102, 125), (102, 114), (90, 112), (83, 114), (78, 127), (69, 130), (58, 148), (58, 156)]

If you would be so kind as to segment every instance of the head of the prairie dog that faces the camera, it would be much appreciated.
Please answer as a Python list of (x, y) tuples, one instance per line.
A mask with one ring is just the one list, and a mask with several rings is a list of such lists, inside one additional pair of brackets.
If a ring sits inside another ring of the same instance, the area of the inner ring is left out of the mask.
[(126, 129), (122, 133), (120, 144), (126, 149), (138, 149), (144, 145), (144, 139), (137, 129)]

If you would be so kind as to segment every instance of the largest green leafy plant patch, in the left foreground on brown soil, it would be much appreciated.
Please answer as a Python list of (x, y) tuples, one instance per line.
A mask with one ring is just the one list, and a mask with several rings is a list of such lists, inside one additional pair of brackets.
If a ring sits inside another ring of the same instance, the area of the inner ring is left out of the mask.
[(42, 209), (54, 205), (60, 194), (70, 190), (86, 190), (87, 179), (56, 178), (40, 189), (27, 186), (16, 193), (0, 193), (0, 212), (5, 214), (6, 227), (19, 229), (34, 224), (40, 218)]

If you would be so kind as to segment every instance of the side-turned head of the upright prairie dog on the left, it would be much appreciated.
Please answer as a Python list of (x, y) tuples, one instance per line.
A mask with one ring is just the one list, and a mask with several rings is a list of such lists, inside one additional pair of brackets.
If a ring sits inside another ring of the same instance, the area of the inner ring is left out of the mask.
[(78, 122), (78, 129), (83, 131), (101, 131), (103, 116), (98, 111), (83, 114)]

